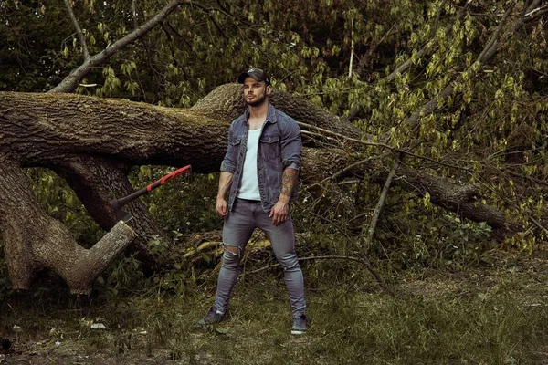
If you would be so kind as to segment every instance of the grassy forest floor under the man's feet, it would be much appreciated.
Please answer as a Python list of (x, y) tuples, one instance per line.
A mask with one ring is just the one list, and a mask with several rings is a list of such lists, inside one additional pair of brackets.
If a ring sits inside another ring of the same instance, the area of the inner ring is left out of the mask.
[(548, 247), (488, 255), (489, 266), (400, 272), (387, 280), (396, 297), (354, 264), (325, 276), (320, 266), (300, 337), (274, 270), (240, 279), (228, 320), (212, 328), (196, 321), (213, 279), (182, 296), (86, 305), (47, 291), (11, 297), (0, 304), (12, 342), (0, 364), (548, 364)]

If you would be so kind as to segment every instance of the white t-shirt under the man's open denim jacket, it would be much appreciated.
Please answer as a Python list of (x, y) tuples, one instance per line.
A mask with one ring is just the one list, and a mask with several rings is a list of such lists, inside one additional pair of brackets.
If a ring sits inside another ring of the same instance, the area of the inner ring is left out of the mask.
[(257, 151), (260, 131), (261, 129), (249, 130), (248, 132), (248, 151), (246, 151), (244, 171), (237, 191), (237, 197), (240, 199), (260, 200), (257, 177)]

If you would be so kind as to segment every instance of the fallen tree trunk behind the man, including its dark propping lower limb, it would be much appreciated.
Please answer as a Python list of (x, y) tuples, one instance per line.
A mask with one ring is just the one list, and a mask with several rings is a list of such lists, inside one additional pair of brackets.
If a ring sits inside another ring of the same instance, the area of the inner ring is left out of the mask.
[[(218, 171), (226, 149), (227, 126), (244, 108), (240, 88), (237, 84), (223, 85), (189, 110), (74, 94), (0, 92), (0, 152), (13, 156), (22, 167), (47, 166), (56, 170), (57, 166), (71, 187), (80, 192), (79, 198), (91, 216), (109, 229), (113, 218), (108, 214), (108, 201), (131, 193), (131, 185), (127, 181), (121, 183), (127, 166), (191, 164), (194, 172)], [(306, 100), (293, 100), (290, 94), (278, 92), (274, 93), (272, 102), (299, 121), (351, 138), (358, 136), (358, 130), (346, 120), (333, 117)], [(305, 144), (315, 146), (317, 143), (307, 140)], [(306, 153), (320, 153), (311, 159), (305, 156), (308, 166), (303, 170), (303, 180), (310, 183), (342, 169), (348, 158), (342, 150), (311, 149)], [(93, 159), (101, 159), (98, 162), (101, 169), (108, 171), (90, 172)], [(107, 168), (109, 164), (111, 167)], [(378, 166), (370, 168), (378, 169)], [(100, 178), (94, 178), (95, 174)], [(420, 176), (426, 179), (427, 175), (409, 170), (406, 176), (412, 179), (412, 186), (416, 186), (416, 179), (421, 180)], [(425, 191), (430, 186), (432, 192), (429, 193), (439, 197), (436, 203), (476, 221), (484, 218), (477, 214), (474, 206), (466, 205), (467, 209), (463, 210), (464, 201), (448, 200), (449, 191), (436, 191), (432, 182), (443, 179), (434, 176), (431, 179), (421, 185), (426, 187)], [(142, 208), (135, 209), (133, 213), (146, 222), (146, 212), (140, 213), (140, 210)], [(503, 214), (495, 215), (491, 223), (505, 224)], [(151, 224), (141, 234), (157, 234), (155, 229)]]

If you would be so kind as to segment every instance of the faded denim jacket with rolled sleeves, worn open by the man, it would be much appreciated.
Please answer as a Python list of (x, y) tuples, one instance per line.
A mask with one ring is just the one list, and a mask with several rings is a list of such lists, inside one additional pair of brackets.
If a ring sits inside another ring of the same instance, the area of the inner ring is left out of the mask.
[[(249, 110), (246, 110), (230, 124), (227, 153), (221, 163), (222, 172), (234, 174), (228, 199), (229, 211), (232, 211), (242, 178), (248, 148), (248, 118)], [(283, 171), (288, 167), (300, 170), (301, 156), (299, 125), (290, 116), (269, 104), (267, 119), (260, 131), (257, 151), (258, 191), (265, 212), (269, 213), (278, 202)], [(297, 197), (298, 190), (299, 186), (296, 184), (290, 196), (291, 201)]]

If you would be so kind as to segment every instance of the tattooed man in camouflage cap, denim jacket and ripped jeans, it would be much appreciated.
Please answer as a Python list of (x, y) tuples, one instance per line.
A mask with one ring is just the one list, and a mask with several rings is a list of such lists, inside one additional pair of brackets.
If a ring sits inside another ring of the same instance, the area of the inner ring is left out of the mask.
[(298, 190), (300, 128), (295, 120), (269, 103), (272, 87), (263, 70), (251, 68), (240, 74), (237, 82), (243, 84), (248, 110), (228, 130), (216, 197), (216, 213), (225, 219), (223, 264), (215, 304), (198, 324), (206, 326), (224, 319), (242, 253), (255, 228), (260, 228), (284, 269), (293, 309), (291, 334), (304, 334), (304, 285), (289, 214), (290, 201), (297, 197)]

